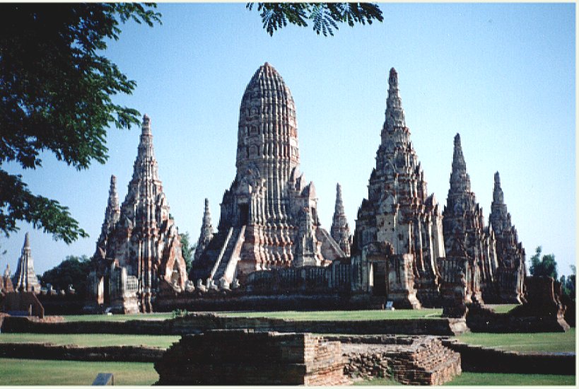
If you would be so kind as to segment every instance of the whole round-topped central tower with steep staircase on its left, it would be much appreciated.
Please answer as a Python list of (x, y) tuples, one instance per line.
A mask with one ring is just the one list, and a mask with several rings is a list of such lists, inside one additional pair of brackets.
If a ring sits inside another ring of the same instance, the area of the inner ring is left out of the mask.
[(261, 269), (328, 265), (344, 252), (320, 226), (312, 182), (299, 172), (296, 106), (267, 62), (243, 94), (237, 174), (223, 194), (218, 232), (191, 277), (227, 285)]

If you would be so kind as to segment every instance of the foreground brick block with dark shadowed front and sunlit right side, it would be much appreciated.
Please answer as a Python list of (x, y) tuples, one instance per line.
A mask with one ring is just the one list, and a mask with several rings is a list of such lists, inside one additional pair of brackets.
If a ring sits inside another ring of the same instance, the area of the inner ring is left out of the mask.
[(247, 330), (186, 335), (155, 363), (159, 385), (344, 385), (339, 342)]

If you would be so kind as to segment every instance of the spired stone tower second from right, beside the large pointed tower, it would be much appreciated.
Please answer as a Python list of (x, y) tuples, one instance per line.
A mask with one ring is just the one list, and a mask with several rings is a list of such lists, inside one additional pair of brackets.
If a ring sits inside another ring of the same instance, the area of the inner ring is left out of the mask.
[(464, 274), (467, 303), (499, 302), (495, 236), (493, 229), (485, 226), (483, 211), (471, 190), (459, 134), (455, 137), (443, 231), (446, 258), (441, 262), (450, 263), (442, 264), (441, 272)]

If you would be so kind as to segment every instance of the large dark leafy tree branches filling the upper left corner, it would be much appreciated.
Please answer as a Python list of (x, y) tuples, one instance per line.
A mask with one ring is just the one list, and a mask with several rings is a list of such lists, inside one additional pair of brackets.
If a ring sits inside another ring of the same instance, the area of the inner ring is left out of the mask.
[(71, 243), (88, 234), (69, 209), (33, 194), (3, 166), (42, 166), (42, 151), (78, 170), (107, 161), (110, 125), (139, 124), (139, 112), (112, 102), (135, 81), (103, 55), (129, 20), (160, 23), (154, 4), (0, 4), (0, 231), (27, 221)]

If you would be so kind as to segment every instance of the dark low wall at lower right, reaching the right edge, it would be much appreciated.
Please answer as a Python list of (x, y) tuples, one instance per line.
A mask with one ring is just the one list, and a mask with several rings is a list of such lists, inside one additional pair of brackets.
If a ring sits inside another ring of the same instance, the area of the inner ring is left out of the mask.
[(443, 339), (443, 345), (460, 353), (462, 371), (476, 373), (575, 375), (575, 353), (520, 354), (472, 346)]

